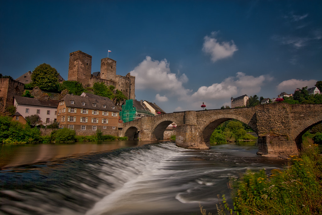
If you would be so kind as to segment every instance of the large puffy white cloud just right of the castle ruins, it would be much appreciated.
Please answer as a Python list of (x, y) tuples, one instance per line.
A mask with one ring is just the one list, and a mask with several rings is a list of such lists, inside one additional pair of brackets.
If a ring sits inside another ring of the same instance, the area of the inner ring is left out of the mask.
[(171, 73), (166, 59), (158, 61), (147, 56), (131, 71), (131, 75), (136, 76), (136, 89), (163, 90), (180, 96), (185, 96), (188, 92), (191, 92), (182, 86), (183, 83), (188, 81), (187, 76), (182, 74), (178, 77)]

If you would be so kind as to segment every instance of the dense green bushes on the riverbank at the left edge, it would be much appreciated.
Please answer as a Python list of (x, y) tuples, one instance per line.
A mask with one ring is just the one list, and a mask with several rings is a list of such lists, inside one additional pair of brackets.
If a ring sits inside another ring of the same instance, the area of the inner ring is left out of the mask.
[(41, 139), (37, 129), (31, 129), (11, 117), (0, 116), (0, 144), (34, 143)]

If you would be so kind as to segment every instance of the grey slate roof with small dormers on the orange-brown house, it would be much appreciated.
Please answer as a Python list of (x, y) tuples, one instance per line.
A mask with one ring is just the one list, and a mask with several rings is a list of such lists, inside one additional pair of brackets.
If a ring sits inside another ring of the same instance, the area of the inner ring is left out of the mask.
[[(67, 94), (60, 101), (64, 101), (66, 107), (119, 112), (116, 105), (109, 98), (89, 93), (86, 96)], [(71, 101), (74, 101), (74, 104), (71, 104)], [(82, 102), (85, 102), (85, 105), (82, 105)], [(93, 104), (96, 104), (96, 107)], [(102, 105), (106, 105), (106, 108), (103, 108)], [(115, 109), (112, 109), (113, 106)]]

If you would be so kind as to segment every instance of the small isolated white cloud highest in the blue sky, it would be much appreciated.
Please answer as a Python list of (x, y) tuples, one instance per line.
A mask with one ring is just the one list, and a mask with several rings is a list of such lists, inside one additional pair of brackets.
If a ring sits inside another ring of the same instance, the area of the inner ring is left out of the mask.
[(211, 33), (210, 37), (205, 36), (202, 48), (206, 54), (210, 54), (213, 62), (231, 57), (233, 53), (238, 50), (233, 40), (230, 42), (218, 42), (215, 38), (216, 34), (217, 32), (214, 31)]

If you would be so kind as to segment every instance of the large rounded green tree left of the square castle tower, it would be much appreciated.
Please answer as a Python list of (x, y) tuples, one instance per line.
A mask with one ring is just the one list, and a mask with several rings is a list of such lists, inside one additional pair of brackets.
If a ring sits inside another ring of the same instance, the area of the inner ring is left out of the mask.
[(58, 72), (49, 64), (40, 64), (33, 70), (31, 74), (33, 86), (38, 86), (40, 89), (50, 92), (58, 90)]

